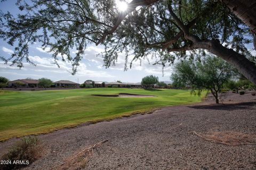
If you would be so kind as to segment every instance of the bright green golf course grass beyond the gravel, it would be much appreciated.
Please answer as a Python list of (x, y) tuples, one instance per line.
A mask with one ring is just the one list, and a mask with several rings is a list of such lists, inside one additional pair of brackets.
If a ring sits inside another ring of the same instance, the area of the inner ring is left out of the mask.
[[(153, 98), (111, 98), (92, 94), (155, 95)], [(197, 103), (187, 90), (94, 88), (45, 91), (0, 90), (0, 141), (143, 113), (163, 106)]]

